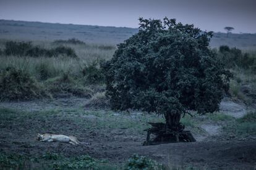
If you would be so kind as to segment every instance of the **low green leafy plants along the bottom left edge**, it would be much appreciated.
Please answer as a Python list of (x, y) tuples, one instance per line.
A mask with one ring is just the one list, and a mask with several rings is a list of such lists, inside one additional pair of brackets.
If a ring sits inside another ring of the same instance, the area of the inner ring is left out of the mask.
[(88, 155), (65, 157), (58, 153), (43, 153), (41, 156), (0, 153), (1, 169), (117, 169), (105, 160)]

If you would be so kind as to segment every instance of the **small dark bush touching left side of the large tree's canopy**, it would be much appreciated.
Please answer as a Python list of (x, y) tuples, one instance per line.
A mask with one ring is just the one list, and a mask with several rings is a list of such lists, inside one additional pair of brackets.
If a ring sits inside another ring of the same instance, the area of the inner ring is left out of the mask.
[(101, 68), (101, 63), (104, 61), (97, 61), (85, 65), (82, 69), (82, 74), (85, 77), (85, 81), (89, 84), (96, 84), (96, 83), (104, 83), (105, 82), (105, 75), (103, 73), (103, 69)]

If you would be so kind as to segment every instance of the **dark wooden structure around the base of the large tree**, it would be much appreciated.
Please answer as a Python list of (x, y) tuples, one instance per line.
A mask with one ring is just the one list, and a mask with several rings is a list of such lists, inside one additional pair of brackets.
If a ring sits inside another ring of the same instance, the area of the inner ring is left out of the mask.
[[(173, 131), (168, 129), (164, 123), (148, 123), (151, 124), (150, 129), (147, 131), (147, 140), (143, 145), (158, 145), (174, 142), (195, 142), (195, 138), (192, 136), (190, 131)], [(156, 137), (150, 140), (150, 134), (154, 134)]]

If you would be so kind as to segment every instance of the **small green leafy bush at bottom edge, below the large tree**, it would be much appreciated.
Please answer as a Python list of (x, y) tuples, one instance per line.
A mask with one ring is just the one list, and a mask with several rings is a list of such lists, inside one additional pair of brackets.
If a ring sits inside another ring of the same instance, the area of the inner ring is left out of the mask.
[(132, 157), (126, 163), (126, 170), (135, 170), (135, 169), (147, 169), (147, 170), (157, 170), (164, 169), (162, 164), (156, 163), (156, 161), (150, 160), (145, 156), (132, 155)]

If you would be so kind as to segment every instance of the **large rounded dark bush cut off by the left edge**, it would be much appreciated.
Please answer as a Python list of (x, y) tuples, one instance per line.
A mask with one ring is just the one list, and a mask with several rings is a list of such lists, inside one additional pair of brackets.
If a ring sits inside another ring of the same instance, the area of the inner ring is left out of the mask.
[(0, 71), (0, 94), (0, 100), (30, 100), (49, 96), (28, 73), (12, 67)]

